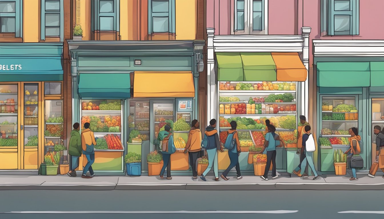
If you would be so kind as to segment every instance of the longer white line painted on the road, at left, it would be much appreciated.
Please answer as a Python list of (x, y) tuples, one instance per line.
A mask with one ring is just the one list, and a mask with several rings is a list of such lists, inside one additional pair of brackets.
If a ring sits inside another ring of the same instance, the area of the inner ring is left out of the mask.
[(10, 211), (2, 214), (289, 214), (298, 211)]

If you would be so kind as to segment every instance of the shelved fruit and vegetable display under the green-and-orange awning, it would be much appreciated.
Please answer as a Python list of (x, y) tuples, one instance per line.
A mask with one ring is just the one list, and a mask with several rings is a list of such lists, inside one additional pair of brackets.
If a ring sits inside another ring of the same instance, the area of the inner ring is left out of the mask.
[[(241, 170), (253, 168), (248, 151), (252, 154), (253, 151), (261, 150), (265, 141), (266, 119), (270, 120), (270, 123), (276, 127), (276, 133), (279, 133), (291, 148), (295, 148), (296, 152), (297, 108), (300, 108), (296, 102), (297, 82), (219, 81), (218, 85), (220, 142), (222, 144), (225, 142), (230, 122), (236, 121), (243, 151), (239, 157)], [(276, 151), (276, 168), (286, 170), (288, 151), (284, 148), (277, 148)], [(218, 160), (220, 161), (220, 158)]]

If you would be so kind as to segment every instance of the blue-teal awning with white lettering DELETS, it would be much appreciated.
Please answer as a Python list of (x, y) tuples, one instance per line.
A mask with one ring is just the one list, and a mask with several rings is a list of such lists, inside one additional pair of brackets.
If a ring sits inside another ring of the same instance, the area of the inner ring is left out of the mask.
[(0, 81), (63, 81), (61, 57), (0, 58)]

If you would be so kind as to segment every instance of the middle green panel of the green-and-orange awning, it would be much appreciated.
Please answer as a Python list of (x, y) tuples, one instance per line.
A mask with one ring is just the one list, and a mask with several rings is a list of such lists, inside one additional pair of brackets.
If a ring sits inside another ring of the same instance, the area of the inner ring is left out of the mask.
[(240, 53), (244, 81), (276, 81), (276, 64), (271, 53)]

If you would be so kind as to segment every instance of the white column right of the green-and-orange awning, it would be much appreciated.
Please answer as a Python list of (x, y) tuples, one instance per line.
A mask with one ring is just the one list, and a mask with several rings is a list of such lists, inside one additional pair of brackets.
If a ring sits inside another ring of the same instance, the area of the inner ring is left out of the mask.
[(301, 28), (301, 36), (304, 38), (303, 43), (303, 64), (307, 69), (307, 79), (305, 82), (301, 82), (301, 114), (308, 119), (308, 107), (309, 107), (309, 59), (310, 59), (310, 27)]

